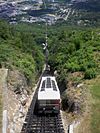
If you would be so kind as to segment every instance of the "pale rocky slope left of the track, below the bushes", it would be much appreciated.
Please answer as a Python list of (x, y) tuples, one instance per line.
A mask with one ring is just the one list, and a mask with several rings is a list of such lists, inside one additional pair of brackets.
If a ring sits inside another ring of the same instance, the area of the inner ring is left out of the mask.
[(18, 70), (9, 70), (8, 133), (20, 133), (32, 96), (24, 75)]

